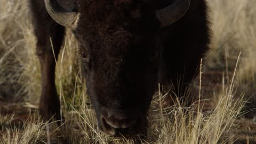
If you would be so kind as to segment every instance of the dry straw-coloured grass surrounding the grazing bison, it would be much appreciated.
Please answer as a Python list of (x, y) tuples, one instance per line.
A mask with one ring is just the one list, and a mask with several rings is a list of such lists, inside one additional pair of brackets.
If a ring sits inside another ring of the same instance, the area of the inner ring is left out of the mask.
[[(66, 127), (57, 128), (54, 123), (39, 120), (37, 111), (33, 110), (37, 109), (39, 100), (40, 69), (34, 55), (36, 40), (27, 1), (0, 2), (0, 101), (6, 104), (0, 103), (0, 143), (49, 143), (49, 140), (51, 143), (135, 143), (97, 130), (95, 113), (79, 73), (77, 44), (71, 32), (67, 32), (56, 69)], [(203, 59), (206, 67), (202, 73), (223, 71), (223, 82), (214, 83), (220, 87), (210, 88), (211, 92), (207, 93), (205, 87), (209, 81), (201, 75), (187, 94), (211, 99), (214, 109), (202, 110), (198, 105), (203, 105), (204, 100), (191, 107), (177, 103), (164, 108), (164, 98), (173, 94), (157, 93), (149, 110), (148, 136), (141, 140), (144, 143), (237, 142), (240, 129), (235, 121), (245, 104), (243, 97), (251, 97), (251, 103), (246, 104), (249, 108), (256, 105), (253, 97), (256, 92), (256, 1), (209, 2), (213, 39), (207, 56), (211, 58)], [(18, 108), (9, 110), (10, 103), (18, 101), (27, 103), (18, 103)], [(26, 112), (22, 112), (25, 109)], [(256, 141), (255, 137), (249, 137), (246, 142), (253, 140)]]

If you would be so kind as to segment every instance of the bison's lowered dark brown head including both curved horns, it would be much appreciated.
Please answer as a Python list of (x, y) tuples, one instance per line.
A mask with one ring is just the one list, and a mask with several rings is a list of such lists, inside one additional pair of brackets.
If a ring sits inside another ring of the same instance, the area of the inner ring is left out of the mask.
[(159, 31), (179, 20), (190, 0), (77, 0), (73, 10), (55, 0), (45, 0), (45, 5), (79, 41), (98, 127), (110, 135), (143, 131), (158, 82)]

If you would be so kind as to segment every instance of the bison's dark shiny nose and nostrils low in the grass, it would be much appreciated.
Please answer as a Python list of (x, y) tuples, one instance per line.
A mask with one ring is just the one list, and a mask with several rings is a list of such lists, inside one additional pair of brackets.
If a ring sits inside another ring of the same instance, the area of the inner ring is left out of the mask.
[(136, 118), (101, 117), (102, 130), (113, 136), (131, 134), (136, 122)]

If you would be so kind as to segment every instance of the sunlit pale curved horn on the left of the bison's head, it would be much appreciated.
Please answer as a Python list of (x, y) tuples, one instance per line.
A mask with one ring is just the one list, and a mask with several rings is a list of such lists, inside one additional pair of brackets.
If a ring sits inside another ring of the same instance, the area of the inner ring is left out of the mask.
[(79, 21), (79, 13), (68, 11), (61, 7), (56, 0), (44, 0), (49, 15), (60, 25), (75, 29)]

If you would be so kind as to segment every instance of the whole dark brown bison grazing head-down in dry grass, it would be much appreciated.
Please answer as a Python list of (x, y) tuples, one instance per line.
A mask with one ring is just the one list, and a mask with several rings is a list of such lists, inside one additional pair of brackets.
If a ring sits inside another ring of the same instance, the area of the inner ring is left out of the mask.
[(82, 74), (98, 127), (134, 135), (147, 126), (158, 83), (187, 86), (208, 49), (205, 0), (30, 0), (42, 72), (39, 112), (63, 119), (55, 55), (65, 28), (79, 43)]

